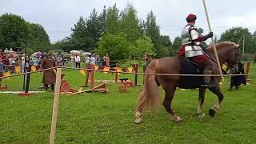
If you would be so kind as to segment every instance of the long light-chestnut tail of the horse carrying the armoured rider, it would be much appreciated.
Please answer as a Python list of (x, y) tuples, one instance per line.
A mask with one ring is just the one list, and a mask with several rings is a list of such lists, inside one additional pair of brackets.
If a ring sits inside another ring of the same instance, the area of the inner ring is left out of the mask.
[[(146, 68), (146, 73), (155, 73), (158, 66), (158, 59), (150, 62)], [(158, 84), (154, 74), (145, 74), (144, 88), (139, 94), (137, 110), (142, 111), (145, 106), (154, 107), (159, 102)]]

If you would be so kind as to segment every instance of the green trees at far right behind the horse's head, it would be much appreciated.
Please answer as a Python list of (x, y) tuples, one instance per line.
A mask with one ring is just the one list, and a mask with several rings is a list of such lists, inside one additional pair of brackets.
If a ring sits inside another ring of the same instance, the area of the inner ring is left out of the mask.
[(245, 38), (245, 53), (256, 53), (256, 50), (254, 49), (254, 38), (253, 35), (250, 34), (249, 30), (247, 28), (242, 27), (233, 27), (230, 30), (226, 30), (220, 38), (220, 42), (223, 41), (230, 41), (242, 44), (243, 42), (243, 35)]

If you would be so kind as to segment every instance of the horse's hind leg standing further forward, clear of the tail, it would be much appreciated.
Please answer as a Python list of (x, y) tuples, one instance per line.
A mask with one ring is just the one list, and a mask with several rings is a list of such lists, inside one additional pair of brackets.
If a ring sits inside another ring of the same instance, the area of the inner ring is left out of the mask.
[(171, 102), (174, 98), (174, 92), (176, 90), (175, 86), (168, 86), (164, 88), (166, 91), (165, 99), (162, 102), (162, 105), (166, 108), (166, 111), (170, 114), (171, 118), (175, 122), (180, 122), (182, 121), (182, 118), (180, 118), (178, 115), (174, 114), (174, 111), (171, 108)]

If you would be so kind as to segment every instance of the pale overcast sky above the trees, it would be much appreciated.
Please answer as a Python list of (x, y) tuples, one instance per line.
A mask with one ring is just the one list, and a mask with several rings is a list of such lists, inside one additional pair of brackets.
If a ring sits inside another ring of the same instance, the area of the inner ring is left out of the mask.
[[(89, 17), (94, 8), (101, 12), (103, 6), (114, 3), (119, 10), (133, 4), (141, 19), (152, 10), (161, 34), (169, 35), (172, 41), (181, 34), (188, 14), (196, 14), (196, 26), (202, 27), (205, 34), (209, 32), (202, 0), (0, 0), (0, 14), (18, 14), (27, 22), (38, 23), (45, 28), (50, 42), (57, 42), (70, 35), (80, 16)], [(233, 26), (256, 30), (255, 0), (206, 0), (206, 6), (218, 38)]]

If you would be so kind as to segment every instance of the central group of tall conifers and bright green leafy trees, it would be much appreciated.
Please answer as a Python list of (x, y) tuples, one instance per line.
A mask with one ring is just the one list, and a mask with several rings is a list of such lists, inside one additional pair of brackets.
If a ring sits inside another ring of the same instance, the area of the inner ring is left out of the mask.
[(69, 37), (54, 43), (54, 49), (107, 53), (113, 59), (172, 55), (170, 38), (160, 34), (154, 13), (150, 11), (146, 20), (139, 19), (132, 5), (124, 10), (118, 10), (116, 5), (104, 6), (100, 13), (94, 9), (89, 18), (80, 17), (71, 30)]

